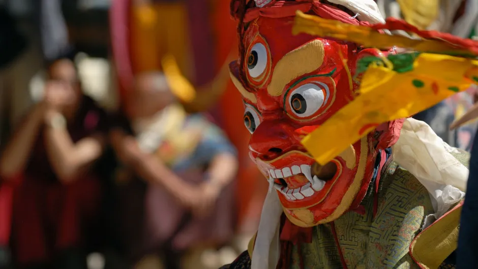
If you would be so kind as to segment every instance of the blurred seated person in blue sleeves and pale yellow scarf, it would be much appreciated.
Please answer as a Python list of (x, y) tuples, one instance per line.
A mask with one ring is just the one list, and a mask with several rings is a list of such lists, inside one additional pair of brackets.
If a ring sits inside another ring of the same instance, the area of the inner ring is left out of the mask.
[(160, 255), (174, 269), (191, 247), (231, 240), (238, 162), (223, 132), (188, 114), (168, 81), (160, 72), (136, 77), (110, 141), (122, 163), (115, 175), (124, 251), (131, 265)]

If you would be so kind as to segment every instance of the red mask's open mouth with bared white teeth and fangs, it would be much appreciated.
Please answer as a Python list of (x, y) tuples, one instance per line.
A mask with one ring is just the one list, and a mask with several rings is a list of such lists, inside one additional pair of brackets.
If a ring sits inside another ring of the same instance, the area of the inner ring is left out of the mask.
[(337, 173), (337, 165), (329, 162), (326, 165), (293, 165), (280, 170), (270, 171), (274, 179), (274, 187), (290, 200), (301, 200), (321, 191), (327, 181)]

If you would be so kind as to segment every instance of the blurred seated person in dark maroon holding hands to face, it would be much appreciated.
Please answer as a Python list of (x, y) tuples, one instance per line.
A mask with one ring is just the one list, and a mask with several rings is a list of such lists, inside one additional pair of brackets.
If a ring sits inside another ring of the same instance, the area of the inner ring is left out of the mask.
[(92, 164), (106, 142), (105, 113), (83, 95), (70, 59), (53, 61), (48, 76), (43, 100), (0, 157), (2, 194), (13, 193), (11, 208), (0, 208), (12, 214), (1, 218), (11, 217), (17, 268), (86, 268), (84, 231), (100, 199)]

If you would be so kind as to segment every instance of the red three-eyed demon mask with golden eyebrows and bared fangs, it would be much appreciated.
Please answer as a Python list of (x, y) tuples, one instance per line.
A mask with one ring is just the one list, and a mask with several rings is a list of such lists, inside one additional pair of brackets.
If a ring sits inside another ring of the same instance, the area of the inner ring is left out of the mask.
[(250, 156), (273, 182), (292, 223), (307, 227), (332, 221), (359, 206), (372, 178), (377, 149), (397, 139), (396, 124), (380, 126), (383, 131), (350, 145), (324, 166), (314, 161), (301, 140), (354, 98), (357, 59), (382, 52), (292, 35), (296, 10), (366, 24), (337, 6), (318, 1), (248, 6), (239, 18), (240, 60), (230, 64), (230, 71), (244, 97), (244, 123), (252, 134)]

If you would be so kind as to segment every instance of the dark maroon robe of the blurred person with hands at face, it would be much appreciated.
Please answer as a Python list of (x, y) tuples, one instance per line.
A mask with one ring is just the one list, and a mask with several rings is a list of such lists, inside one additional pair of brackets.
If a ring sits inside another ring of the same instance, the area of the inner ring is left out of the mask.
[[(103, 132), (105, 119), (105, 113), (85, 97), (68, 125), (73, 142)], [(19, 264), (44, 262), (59, 250), (80, 246), (83, 229), (100, 203), (100, 181), (93, 172), (69, 185), (58, 181), (42, 133), (24, 173), (0, 185), (0, 246), (12, 241)]]

